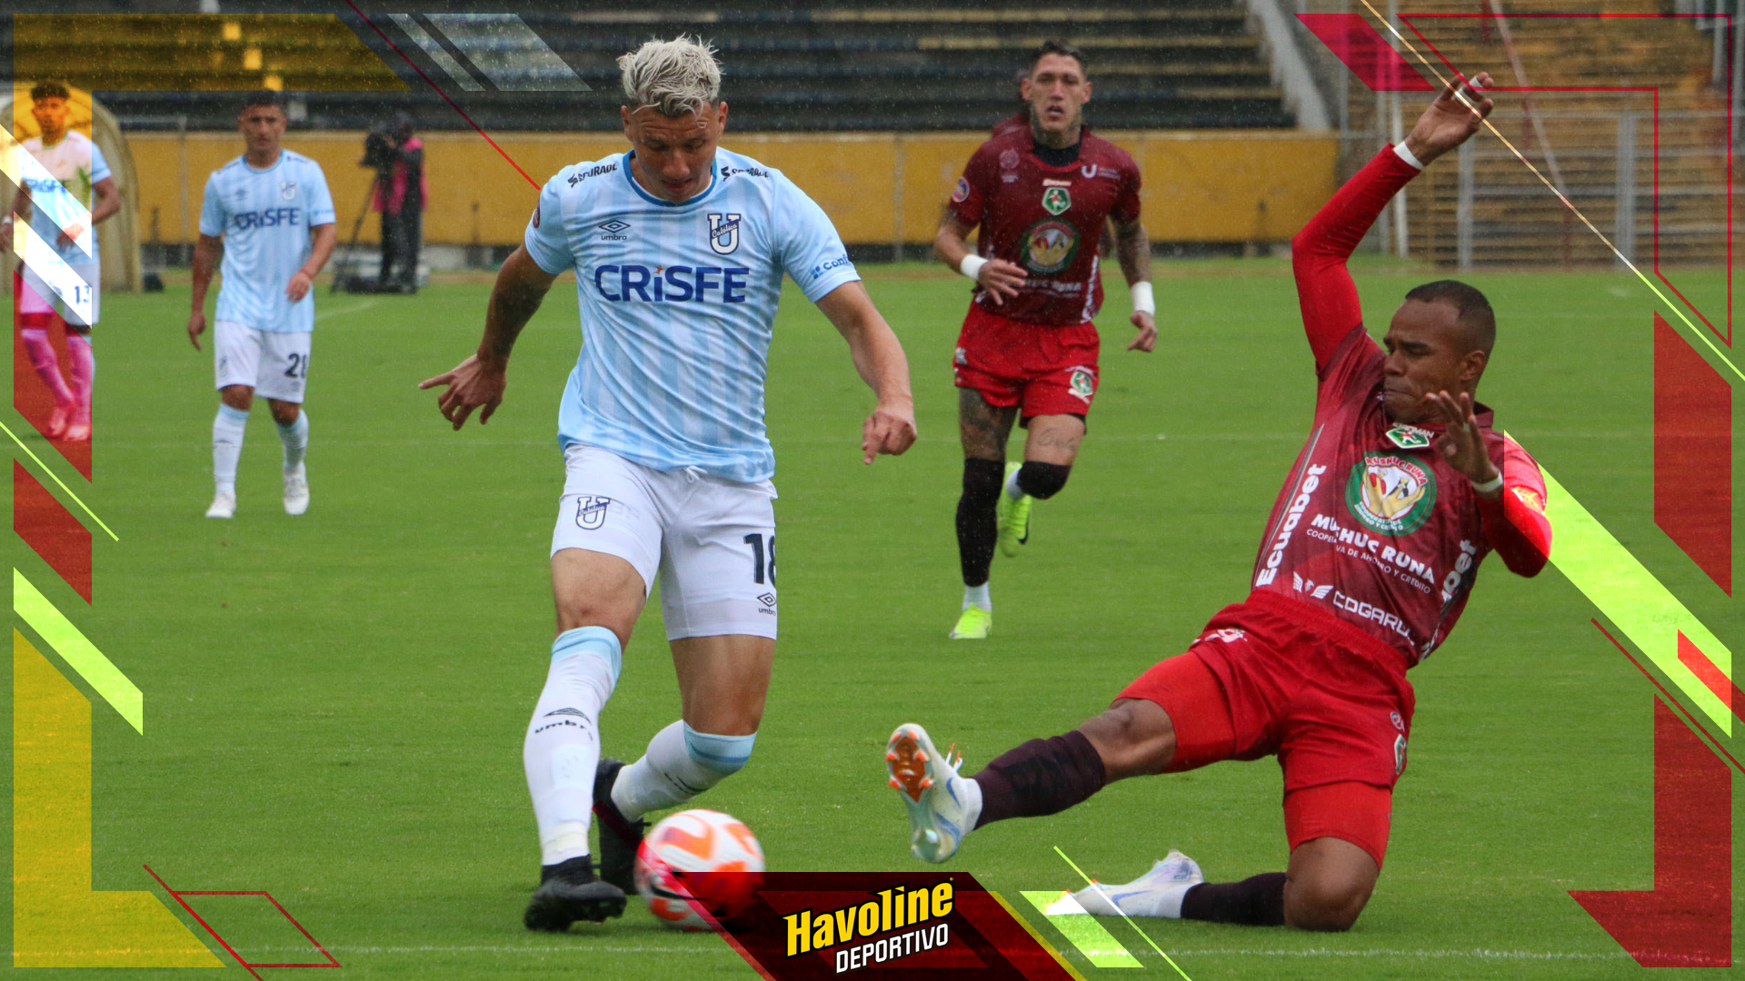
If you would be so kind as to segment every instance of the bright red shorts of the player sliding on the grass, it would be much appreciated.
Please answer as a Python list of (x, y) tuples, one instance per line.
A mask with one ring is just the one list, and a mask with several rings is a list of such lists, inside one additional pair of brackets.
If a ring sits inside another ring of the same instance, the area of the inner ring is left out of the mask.
[(1223, 609), (1188, 653), (1153, 665), (1120, 698), (1169, 714), (1171, 773), (1276, 754), (1291, 848), (1340, 838), (1380, 866), (1412, 726), (1405, 658), (1352, 649), (1276, 606)]

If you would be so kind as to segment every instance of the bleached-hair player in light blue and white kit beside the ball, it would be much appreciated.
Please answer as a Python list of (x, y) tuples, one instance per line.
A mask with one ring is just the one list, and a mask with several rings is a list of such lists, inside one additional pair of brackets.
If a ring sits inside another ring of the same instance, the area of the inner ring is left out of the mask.
[[(440, 408), (455, 429), (475, 408), (487, 422), (515, 337), (574, 269), (586, 342), (558, 410), (557, 639), (524, 747), (541, 852), (530, 930), (621, 915), (644, 815), (750, 758), (775, 660), (775, 452), (763, 407), (784, 271), (878, 394), (862, 426), (866, 463), (914, 442), (902, 346), (824, 209), (780, 171), (717, 148), (728, 103), (714, 52), (686, 37), (651, 40), (619, 68), (632, 150), (546, 182), (497, 274), (478, 353), (421, 386), (448, 386)], [(625, 766), (600, 759), (599, 717), (656, 573), (682, 719)]]

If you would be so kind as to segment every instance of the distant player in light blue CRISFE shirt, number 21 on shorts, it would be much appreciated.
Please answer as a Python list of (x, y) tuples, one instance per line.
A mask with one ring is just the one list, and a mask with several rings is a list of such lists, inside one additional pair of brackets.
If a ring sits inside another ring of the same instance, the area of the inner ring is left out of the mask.
[(279, 147), (284, 106), (277, 93), (251, 93), (236, 120), (246, 150), (206, 178), (201, 239), (194, 246), (194, 312), (188, 340), (206, 332), (206, 288), (223, 253), (213, 363), (218, 417), (213, 419), (213, 480), (208, 518), (236, 515), (236, 464), (255, 393), (267, 398), (284, 447), (284, 513), (309, 510), (309, 384), (316, 276), (333, 255), (339, 230), (321, 166)]

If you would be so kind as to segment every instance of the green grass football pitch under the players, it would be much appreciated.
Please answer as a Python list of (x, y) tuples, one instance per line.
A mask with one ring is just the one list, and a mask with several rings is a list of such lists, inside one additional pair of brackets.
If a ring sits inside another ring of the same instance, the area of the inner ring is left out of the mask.
[[(918, 868), (883, 779), (897, 723), (955, 740), (974, 772), (1071, 728), (1181, 651), (1244, 595), (1312, 408), (1286, 264), (1160, 265), (1153, 356), (1122, 351), (1117, 278), (1103, 389), (1071, 482), (1038, 506), (1026, 555), (996, 560), (993, 637), (948, 642), (961, 466), (949, 360), (967, 290), (934, 267), (864, 272), (907, 347), (921, 440), (860, 464), (871, 396), (836, 332), (789, 288), (768, 396), (782, 492), (777, 674), (752, 763), (701, 801), (745, 819), (777, 869)], [(1359, 264), (1375, 333), (1431, 278)], [(1612, 272), (1471, 281), (1501, 319), (1480, 389), (1499, 424), (1745, 649), (1738, 604), (1653, 522), (1653, 295)], [(270, 890), (347, 978), (752, 978), (722, 941), (665, 930), (635, 902), (623, 920), (565, 936), (520, 925), (537, 873), (520, 745), (551, 637), (553, 429), (576, 356), (572, 286), (560, 283), (522, 335), (496, 419), (462, 433), (415, 384), (473, 349), (487, 279), (415, 298), (325, 286), (307, 517), (279, 508), (263, 407), (236, 520), (201, 517), (211, 354), (188, 347), (185, 285), (171, 283), (105, 297), (96, 480), (79, 487), (120, 541), (98, 534), (94, 604), (10, 539), (14, 564), (145, 691), (143, 737), (101, 702), (92, 712), (96, 888), (155, 888), (143, 862), (181, 890)], [(72, 480), (40, 438), (33, 447)], [(1412, 672), (1412, 765), (1358, 927), (1146, 923), (1194, 981), (1640, 971), (1567, 890), (1653, 887), (1653, 688), (1558, 571), (1527, 581), (1495, 559), (1485, 569), (1461, 628)], [(656, 620), (651, 607), (602, 721), (606, 752), (626, 759), (679, 712)], [(1078, 885), (1054, 847), (1105, 882), (1169, 847), (1215, 880), (1283, 869), (1277, 766), (1119, 784), (1068, 813), (977, 833), (951, 868), (1028, 911), (1019, 890)], [(255, 908), (202, 909), (251, 960), (312, 953)], [(1174, 976), (1126, 925), (1112, 930), (1146, 972)], [(1070, 958), (1087, 978), (1108, 972)]]

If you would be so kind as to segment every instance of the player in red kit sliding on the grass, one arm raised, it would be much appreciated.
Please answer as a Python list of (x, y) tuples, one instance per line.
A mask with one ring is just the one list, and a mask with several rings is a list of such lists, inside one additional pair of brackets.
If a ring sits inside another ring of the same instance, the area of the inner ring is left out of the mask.
[(1272, 506), (1248, 600), (1101, 716), (972, 779), (921, 726), (899, 726), (885, 759), (916, 857), (941, 862), (974, 827), (1061, 812), (1124, 777), (1277, 756), (1290, 871), (1206, 883), (1171, 852), (1139, 880), (1085, 888), (1057, 911), (1316, 930), (1358, 918), (1406, 766), (1406, 669), (1447, 639), (1488, 552), (1534, 576), (1551, 550), (1537, 464), (1473, 400), (1495, 335), (1483, 295), (1454, 281), (1412, 290), (1384, 353), (1345, 269), (1382, 206), (1478, 131), (1490, 99), (1464, 96), (1445, 91), (1291, 243), (1316, 361), (1314, 429)]

